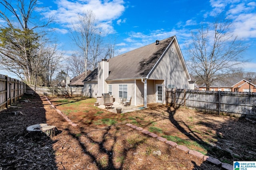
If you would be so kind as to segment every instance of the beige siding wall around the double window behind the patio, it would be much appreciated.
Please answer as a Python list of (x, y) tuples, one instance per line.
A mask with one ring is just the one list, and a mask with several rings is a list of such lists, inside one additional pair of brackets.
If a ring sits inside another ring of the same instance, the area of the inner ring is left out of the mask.
[(134, 80), (108, 81), (108, 84), (112, 84), (112, 96), (115, 98), (115, 102), (120, 102), (119, 84), (127, 84), (127, 95), (132, 96), (131, 105), (135, 106)]

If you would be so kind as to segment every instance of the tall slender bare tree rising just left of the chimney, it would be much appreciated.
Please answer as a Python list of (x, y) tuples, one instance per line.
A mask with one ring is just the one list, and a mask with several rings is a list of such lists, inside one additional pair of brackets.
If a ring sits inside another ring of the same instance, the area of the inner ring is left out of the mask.
[(95, 36), (100, 33), (100, 27), (98, 25), (98, 21), (95, 18), (95, 14), (92, 10), (88, 10), (80, 15), (78, 15), (77, 23), (73, 23), (72, 31), (72, 40), (75, 45), (79, 47), (83, 52), (84, 57), (84, 72), (85, 76), (87, 76), (87, 68), (88, 68), (88, 54), (90, 43)]

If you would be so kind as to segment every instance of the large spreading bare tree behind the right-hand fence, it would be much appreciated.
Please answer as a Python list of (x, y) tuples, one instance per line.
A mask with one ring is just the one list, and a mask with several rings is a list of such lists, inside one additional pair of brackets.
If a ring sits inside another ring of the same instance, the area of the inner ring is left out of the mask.
[(212, 27), (202, 25), (197, 32), (192, 32), (192, 43), (187, 44), (188, 66), (197, 81), (206, 85), (206, 90), (246, 62), (241, 56), (246, 46), (232, 34), (231, 28), (230, 20), (218, 19)]

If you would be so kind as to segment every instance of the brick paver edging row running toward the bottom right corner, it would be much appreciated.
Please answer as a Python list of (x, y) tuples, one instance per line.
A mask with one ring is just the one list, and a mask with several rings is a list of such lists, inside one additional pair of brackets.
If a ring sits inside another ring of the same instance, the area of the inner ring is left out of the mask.
[(175, 143), (173, 141), (168, 141), (167, 139), (165, 139), (163, 137), (158, 137), (155, 133), (151, 133), (151, 132), (149, 132), (149, 131), (141, 128), (141, 127), (137, 127), (135, 125), (132, 125), (131, 123), (126, 123), (126, 126), (129, 126), (133, 129), (136, 129), (136, 130), (144, 133), (145, 135), (149, 135), (150, 137), (156, 138), (157, 140), (166, 143), (167, 145), (169, 145), (172, 148), (182, 150), (183, 152), (186, 152), (187, 154), (194, 155), (198, 159), (202, 159), (204, 161), (210, 162), (211, 164), (214, 164), (215, 166), (221, 167), (224, 170), (233, 170), (233, 165), (230, 165), (230, 164), (227, 164), (227, 163), (222, 163), (222, 162), (220, 162), (220, 160), (218, 160), (216, 158), (213, 158), (212, 156), (203, 155), (202, 153), (200, 153), (196, 150), (190, 150), (186, 146), (183, 146), (183, 145), (177, 145), (177, 143)]

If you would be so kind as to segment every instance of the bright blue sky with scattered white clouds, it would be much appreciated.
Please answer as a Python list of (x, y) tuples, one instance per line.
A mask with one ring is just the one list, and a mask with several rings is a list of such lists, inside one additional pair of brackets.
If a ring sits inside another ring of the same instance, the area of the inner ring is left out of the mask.
[[(76, 47), (68, 36), (68, 26), (77, 14), (92, 10), (105, 33), (116, 39), (121, 54), (176, 35), (185, 61), (185, 43), (200, 22), (212, 22), (223, 13), (233, 21), (233, 31), (244, 39), (248, 50), (241, 56), (251, 59), (245, 71), (256, 72), (256, 2), (254, 0), (41, 0), (45, 17), (54, 16), (55, 35), (61, 49), (70, 56)], [(0, 71), (0, 74), (2, 72)]]

